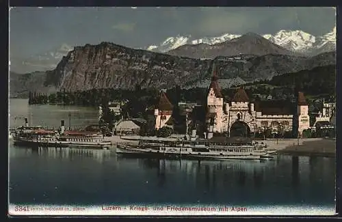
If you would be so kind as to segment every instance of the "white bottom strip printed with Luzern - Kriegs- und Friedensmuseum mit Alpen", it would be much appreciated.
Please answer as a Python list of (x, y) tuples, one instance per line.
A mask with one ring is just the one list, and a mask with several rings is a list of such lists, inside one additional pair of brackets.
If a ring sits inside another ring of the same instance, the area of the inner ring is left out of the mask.
[[(226, 215), (334, 215), (334, 206), (185, 206), (166, 204), (103, 205), (103, 206), (55, 206), (55, 205), (9, 205), (12, 216), (77, 215), (77, 216), (226, 216)], [(215, 208), (215, 210), (213, 210)], [(219, 209), (221, 208), (221, 210)], [(224, 209), (224, 210), (223, 210)]]

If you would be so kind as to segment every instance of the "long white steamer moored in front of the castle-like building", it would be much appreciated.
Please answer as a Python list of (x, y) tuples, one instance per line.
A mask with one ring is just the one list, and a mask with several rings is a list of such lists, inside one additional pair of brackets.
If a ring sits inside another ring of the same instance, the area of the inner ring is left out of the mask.
[(176, 157), (196, 159), (259, 159), (267, 154), (256, 150), (248, 138), (213, 137), (197, 141), (148, 143), (137, 146), (118, 145), (117, 153), (151, 157)]

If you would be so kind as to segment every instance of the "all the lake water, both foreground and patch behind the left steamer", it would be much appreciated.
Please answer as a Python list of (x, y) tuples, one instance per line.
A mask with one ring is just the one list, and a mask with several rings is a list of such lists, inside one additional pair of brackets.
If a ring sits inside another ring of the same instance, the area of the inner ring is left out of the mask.
[[(10, 100), (10, 124), (97, 122), (97, 110), (28, 106)], [(14, 117), (16, 120), (14, 120)], [(265, 161), (171, 161), (122, 158), (114, 150), (18, 148), (9, 143), (12, 204), (229, 204), (333, 209), (335, 159), (283, 156)]]

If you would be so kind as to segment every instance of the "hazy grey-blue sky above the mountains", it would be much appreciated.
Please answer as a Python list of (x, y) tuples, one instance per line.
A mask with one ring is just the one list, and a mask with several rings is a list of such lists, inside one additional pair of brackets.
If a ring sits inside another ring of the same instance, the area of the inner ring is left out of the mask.
[(274, 34), (280, 29), (319, 36), (335, 26), (335, 14), (331, 7), (11, 8), (11, 69), (25, 69), (19, 68), (25, 59), (56, 51), (62, 45), (114, 42), (144, 48), (177, 35)]

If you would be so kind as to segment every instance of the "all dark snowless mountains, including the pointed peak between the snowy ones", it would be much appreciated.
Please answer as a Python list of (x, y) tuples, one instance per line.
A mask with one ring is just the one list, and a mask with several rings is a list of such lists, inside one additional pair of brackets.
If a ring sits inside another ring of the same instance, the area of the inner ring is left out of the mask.
[[(333, 35), (327, 34), (321, 42), (332, 38)], [(329, 48), (329, 42), (320, 46)], [(101, 42), (75, 46), (72, 50), (64, 45), (57, 48), (57, 53), (46, 53), (45, 56), (50, 59), (41, 57), (40, 61), (51, 67), (52, 58), (59, 60), (54, 69), (27, 74), (10, 72), (11, 96), (27, 94), (28, 91), (51, 93), (61, 89), (133, 89), (136, 85), (159, 89), (174, 85), (207, 87), (213, 63), (218, 67), (222, 87), (336, 64), (334, 51), (307, 56), (255, 33), (217, 44), (185, 44), (167, 53)]]

